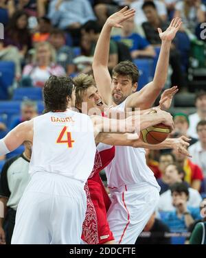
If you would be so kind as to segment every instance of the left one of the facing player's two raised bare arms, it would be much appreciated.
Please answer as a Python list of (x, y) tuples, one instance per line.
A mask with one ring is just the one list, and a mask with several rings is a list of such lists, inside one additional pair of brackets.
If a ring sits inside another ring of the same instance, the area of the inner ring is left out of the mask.
[(135, 10), (125, 7), (111, 15), (104, 24), (93, 56), (93, 75), (100, 95), (108, 106), (111, 106), (111, 75), (108, 72), (108, 54), (112, 27), (121, 28), (121, 23), (135, 15)]

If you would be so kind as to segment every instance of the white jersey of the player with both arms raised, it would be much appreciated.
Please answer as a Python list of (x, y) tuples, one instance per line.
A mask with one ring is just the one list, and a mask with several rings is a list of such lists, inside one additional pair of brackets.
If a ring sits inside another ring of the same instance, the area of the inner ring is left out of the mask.
[[(118, 106), (114, 106), (113, 109), (124, 111), (125, 104), (126, 99)], [(160, 189), (152, 170), (146, 164), (143, 148), (115, 146), (115, 157), (105, 168), (105, 172), (108, 187), (111, 189), (139, 183), (149, 183)]]

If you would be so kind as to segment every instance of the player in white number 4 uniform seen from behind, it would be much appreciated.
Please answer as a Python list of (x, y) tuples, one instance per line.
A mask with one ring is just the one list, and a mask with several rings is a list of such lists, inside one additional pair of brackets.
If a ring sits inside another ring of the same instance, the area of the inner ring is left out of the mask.
[(84, 183), (93, 169), (95, 137), (102, 126), (107, 132), (113, 126), (133, 131), (134, 120), (115, 124), (69, 109), (75, 103), (71, 78), (51, 76), (43, 93), (47, 113), (19, 124), (0, 140), (0, 155), (24, 141), (32, 143), (32, 178), (16, 212), (12, 244), (80, 244), (87, 207)]

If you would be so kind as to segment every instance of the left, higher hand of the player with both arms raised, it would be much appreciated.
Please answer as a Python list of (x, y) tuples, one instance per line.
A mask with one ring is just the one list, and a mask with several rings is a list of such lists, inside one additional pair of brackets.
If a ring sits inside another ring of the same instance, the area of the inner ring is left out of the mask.
[(121, 25), (121, 23), (130, 19), (134, 15), (135, 15), (135, 10), (134, 9), (128, 10), (128, 6), (126, 6), (119, 12), (115, 12), (114, 14), (109, 16), (108, 19), (106, 20), (106, 24), (108, 24), (111, 27), (122, 28), (123, 26)]

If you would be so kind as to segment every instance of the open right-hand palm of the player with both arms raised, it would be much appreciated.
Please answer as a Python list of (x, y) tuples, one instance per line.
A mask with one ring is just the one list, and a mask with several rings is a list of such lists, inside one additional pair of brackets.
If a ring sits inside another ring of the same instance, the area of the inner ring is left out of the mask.
[(162, 32), (161, 28), (157, 29), (159, 32), (159, 37), (161, 40), (172, 41), (176, 35), (176, 32), (178, 32), (181, 28), (181, 25), (182, 22), (180, 18), (176, 17), (175, 19), (172, 19), (170, 26), (167, 30), (165, 30), (165, 32)]

